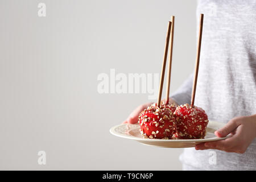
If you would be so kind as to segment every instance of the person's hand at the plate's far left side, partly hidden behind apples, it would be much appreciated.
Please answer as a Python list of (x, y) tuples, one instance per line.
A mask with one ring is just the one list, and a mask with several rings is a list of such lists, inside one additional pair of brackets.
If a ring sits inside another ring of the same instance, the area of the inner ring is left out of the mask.
[[(175, 104), (175, 101), (172, 100), (170, 98), (169, 100), (169, 103), (170, 104)], [(144, 109), (146, 109), (148, 106), (151, 106), (151, 104), (154, 104), (154, 102), (150, 102), (150, 103), (147, 103), (147, 104), (143, 104), (143, 105), (140, 105), (138, 106), (130, 115), (129, 117), (123, 122), (123, 123), (131, 123), (131, 124), (134, 124), (134, 123), (137, 123), (138, 122), (138, 117), (139, 117), (139, 113), (141, 113)]]

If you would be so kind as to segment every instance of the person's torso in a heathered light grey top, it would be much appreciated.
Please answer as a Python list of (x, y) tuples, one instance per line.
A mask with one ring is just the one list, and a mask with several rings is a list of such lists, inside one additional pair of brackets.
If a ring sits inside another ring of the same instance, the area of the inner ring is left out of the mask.
[[(256, 1), (199, 1), (197, 19), (201, 13), (195, 105), (207, 112), (209, 120), (224, 123), (256, 114)], [(245, 154), (214, 152), (216, 165), (209, 164), (209, 150), (185, 149), (181, 160), (201, 169), (256, 169), (256, 140)]]

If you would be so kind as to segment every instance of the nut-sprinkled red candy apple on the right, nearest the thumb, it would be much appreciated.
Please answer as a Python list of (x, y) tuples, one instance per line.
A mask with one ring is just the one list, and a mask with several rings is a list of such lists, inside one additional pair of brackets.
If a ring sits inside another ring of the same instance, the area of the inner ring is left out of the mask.
[(174, 114), (176, 115), (175, 135), (177, 138), (200, 139), (205, 137), (209, 121), (201, 107), (184, 104), (178, 106)]

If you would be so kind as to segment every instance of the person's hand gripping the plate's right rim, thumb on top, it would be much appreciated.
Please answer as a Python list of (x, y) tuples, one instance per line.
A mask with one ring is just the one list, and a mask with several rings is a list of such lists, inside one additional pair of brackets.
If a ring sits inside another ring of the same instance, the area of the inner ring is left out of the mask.
[(214, 134), (217, 137), (231, 136), (224, 140), (197, 144), (196, 150), (216, 149), (243, 154), (256, 137), (256, 115), (233, 118)]

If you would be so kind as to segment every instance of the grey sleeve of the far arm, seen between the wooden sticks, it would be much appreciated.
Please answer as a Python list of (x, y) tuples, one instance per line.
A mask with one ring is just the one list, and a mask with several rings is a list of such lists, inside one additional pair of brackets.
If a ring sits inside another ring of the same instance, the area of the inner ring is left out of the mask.
[(176, 90), (176, 92), (171, 95), (172, 100), (174, 100), (178, 105), (189, 104), (191, 102), (192, 85), (193, 75), (191, 74)]

